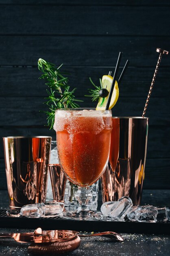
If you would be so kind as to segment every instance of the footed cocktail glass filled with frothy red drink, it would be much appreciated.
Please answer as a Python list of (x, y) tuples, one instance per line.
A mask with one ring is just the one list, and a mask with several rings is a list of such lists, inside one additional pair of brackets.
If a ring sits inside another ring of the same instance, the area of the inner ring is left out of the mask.
[(54, 130), (61, 168), (68, 179), (78, 186), (76, 211), (63, 213), (63, 218), (98, 219), (87, 203), (92, 197), (89, 186), (104, 173), (109, 160), (112, 130), (111, 110), (60, 109), (55, 112)]

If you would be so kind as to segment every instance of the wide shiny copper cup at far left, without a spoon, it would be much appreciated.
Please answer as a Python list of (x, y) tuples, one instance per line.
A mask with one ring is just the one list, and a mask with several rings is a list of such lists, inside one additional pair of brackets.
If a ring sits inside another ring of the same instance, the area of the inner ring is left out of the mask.
[(45, 202), (51, 137), (5, 137), (9, 207)]

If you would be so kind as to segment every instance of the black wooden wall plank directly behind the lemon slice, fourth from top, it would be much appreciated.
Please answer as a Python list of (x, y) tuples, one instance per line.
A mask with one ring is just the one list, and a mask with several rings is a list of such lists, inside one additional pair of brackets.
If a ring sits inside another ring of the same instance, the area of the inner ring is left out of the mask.
[[(60, 65), (60, 63), (58, 63)], [(88, 94), (88, 88), (93, 88), (89, 81), (92, 78), (96, 85), (99, 85), (99, 78), (108, 74), (111, 67), (63, 67), (63, 71), (71, 74), (69, 84), (71, 88), (77, 87), (76, 96), (83, 97)], [(129, 67), (120, 85), (120, 96), (122, 97), (147, 97), (152, 81), (155, 67)], [(122, 68), (120, 68), (120, 73)], [(120, 74), (119, 73), (119, 74)], [(83, 75), (82, 75), (83, 74)], [(41, 75), (37, 67), (0, 67), (0, 95), (1, 97), (46, 97), (45, 81), (38, 79)], [(160, 67), (159, 74), (153, 88), (153, 97), (170, 97), (170, 68)], [(166, 93), (163, 93), (166, 92)]]

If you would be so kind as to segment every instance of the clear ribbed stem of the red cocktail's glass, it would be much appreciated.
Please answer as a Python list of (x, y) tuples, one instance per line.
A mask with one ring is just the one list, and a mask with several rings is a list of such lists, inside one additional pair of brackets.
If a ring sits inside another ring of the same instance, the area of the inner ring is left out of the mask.
[(77, 213), (79, 213), (80, 211), (89, 211), (89, 207), (87, 207), (87, 203), (92, 198), (92, 192), (90, 191), (89, 186), (85, 188), (78, 186), (78, 190), (75, 194), (75, 198), (79, 203)]

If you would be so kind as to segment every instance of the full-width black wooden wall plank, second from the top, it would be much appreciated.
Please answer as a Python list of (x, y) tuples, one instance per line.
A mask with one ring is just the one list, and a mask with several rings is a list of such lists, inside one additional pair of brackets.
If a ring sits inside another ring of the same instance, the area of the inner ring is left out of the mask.
[(167, 36), (162, 24), (170, 23), (169, 12), (170, 7), (164, 6), (4, 5), (0, 8), (0, 34)]

